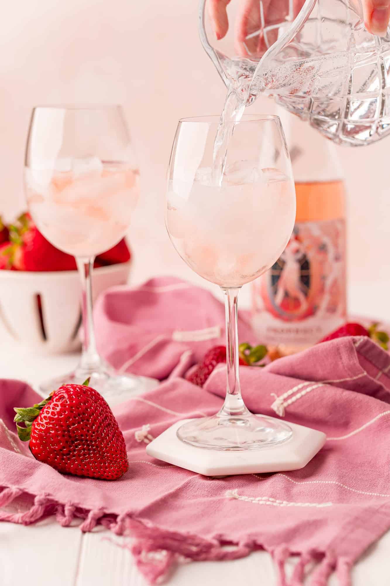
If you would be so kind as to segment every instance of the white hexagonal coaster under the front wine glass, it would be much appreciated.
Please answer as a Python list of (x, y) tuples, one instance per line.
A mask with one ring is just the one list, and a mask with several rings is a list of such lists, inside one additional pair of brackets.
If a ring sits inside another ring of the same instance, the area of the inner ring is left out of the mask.
[(228, 476), (256, 472), (297, 470), (323, 447), (326, 435), (303, 425), (288, 423), (293, 435), (283, 444), (243, 451), (220, 451), (185, 444), (177, 429), (190, 419), (177, 421), (146, 446), (146, 453), (163, 462), (175, 464), (204, 476)]

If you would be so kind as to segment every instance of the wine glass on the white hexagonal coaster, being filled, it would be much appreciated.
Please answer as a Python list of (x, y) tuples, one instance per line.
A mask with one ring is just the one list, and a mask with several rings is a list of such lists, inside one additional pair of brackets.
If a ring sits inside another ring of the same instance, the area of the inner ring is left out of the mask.
[(244, 115), (228, 141), (223, 175), (215, 177), (221, 168), (214, 149), (218, 122), (217, 116), (179, 121), (169, 163), (166, 227), (183, 260), (223, 291), (227, 393), (217, 415), (183, 424), (177, 436), (201, 448), (256, 449), (288, 440), (292, 430), (282, 421), (250, 413), (242, 400), (238, 294), (286, 247), (295, 222), (295, 187), (277, 116)]

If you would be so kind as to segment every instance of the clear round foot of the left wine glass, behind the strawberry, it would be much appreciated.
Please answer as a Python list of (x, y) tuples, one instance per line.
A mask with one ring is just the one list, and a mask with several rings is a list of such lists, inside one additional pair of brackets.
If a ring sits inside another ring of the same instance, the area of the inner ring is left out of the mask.
[(154, 389), (159, 384), (156, 379), (135, 376), (134, 374), (115, 373), (109, 366), (104, 365), (93, 373), (77, 368), (71, 373), (43, 382), (39, 385), (39, 390), (43, 396), (48, 397), (52, 391), (58, 389), (61, 385), (83, 384), (88, 377), (91, 377), (89, 386), (97, 390), (110, 407), (126, 401), (135, 394)]

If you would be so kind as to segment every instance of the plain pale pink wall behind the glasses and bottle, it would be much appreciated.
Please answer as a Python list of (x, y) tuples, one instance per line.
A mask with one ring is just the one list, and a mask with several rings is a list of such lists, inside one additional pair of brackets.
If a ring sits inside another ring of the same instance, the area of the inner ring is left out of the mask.
[[(197, 281), (163, 225), (165, 170), (176, 122), (216, 114), (224, 100), (223, 83), (197, 36), (197, 4), (7, 3), (0, 21), (0, 212), (7, 219), (24, 207), (23, 151), (32, 106), (119, 102), (125, 106), (142, 174), (142, 200), (129, 232), (133, 280), (170, 272)], [(272, 104), (258, 100), (251, 111), (272, 111)], [(389, 147), (390, 139), (385, 139), (368, 149), (340, 149), (349, 193), (350, 279), (353, 287), (367, 289), (371, 299), (372, 292), (377, 294), (383, 307), (389, 281)], [(370, 304), (375, 315), (374, 302)]]

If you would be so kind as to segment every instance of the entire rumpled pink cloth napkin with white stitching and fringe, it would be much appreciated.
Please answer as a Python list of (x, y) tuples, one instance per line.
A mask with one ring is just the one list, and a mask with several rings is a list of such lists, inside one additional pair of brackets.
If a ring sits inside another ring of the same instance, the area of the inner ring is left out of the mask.
[[(175, 421), (211, 415), (221, 406), (222, 365), (204, 389), (182, 378), (221, 341), (211, 337), (223, 329), (220, 304), (203, 289), (154, 280), (137, 290), (107, 292), (96, 318), (98, 338), (105, 340), (101, 350), (116, 366), (161, 379), (170, 374), (157, 389), (113, 410), (130, 469), (108, 482), (63, 476), (37, 462), (12, 423), (12, 407), (32, 404), (37, 395), (25, 383), (3, 380), (0, 520), (29, 524), (54, 514), (63, 526), (79, 517), (83, 531), (100, 523), (128, 533), (150, 582), (183, 557), (231, 560), (265, 548), (280, 586), (303, 584), (313, 564), (313, 585), (326, 585), (333, 571), (342, 586), (351, 584), (355, 560), (390, 527), (388, 354), (369, 339), (344, 338), (265, 369), (241, 367), (252, 411), (309, 425), (326, 432), (327, 441), (302, 470), (213, 479), (152, 459), (145, 447)], [(240, 326), (251, 335), (245, 321)], [(292, 555), (298, 561), (288, 578), (285, 561)]]

